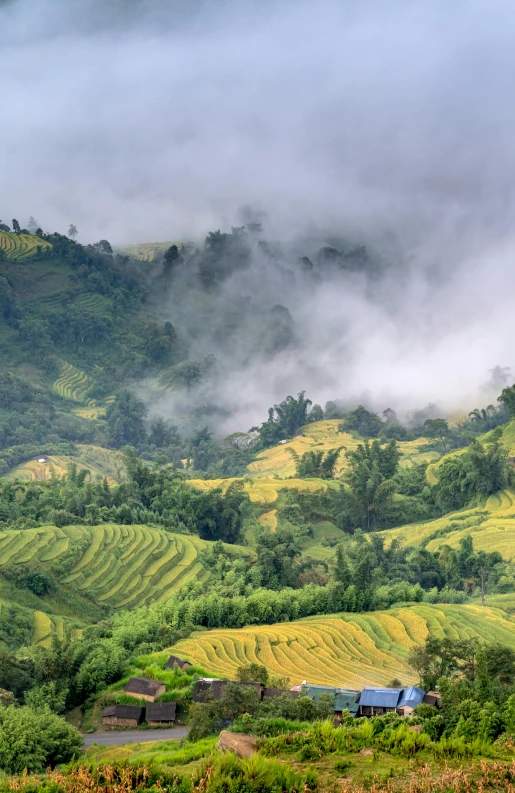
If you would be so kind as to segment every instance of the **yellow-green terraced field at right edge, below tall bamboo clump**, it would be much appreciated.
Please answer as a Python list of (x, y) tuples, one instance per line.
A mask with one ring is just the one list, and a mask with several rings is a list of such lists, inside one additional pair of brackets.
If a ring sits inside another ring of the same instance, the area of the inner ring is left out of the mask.
[(407, 545), (424, 545), (436, 551), (442, 545), (458, 546), (471, 536), (478, 551), (499, 551), (506, 561), (515, 559), (515, 494), (503, 491), (484, 506), (451, 512), (443, 518), (381, 532), (386, 543), (397, 539)]

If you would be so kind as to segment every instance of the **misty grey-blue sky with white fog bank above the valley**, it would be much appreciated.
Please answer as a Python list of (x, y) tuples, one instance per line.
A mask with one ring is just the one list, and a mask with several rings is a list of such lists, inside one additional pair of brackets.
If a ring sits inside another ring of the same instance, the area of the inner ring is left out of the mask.
[(248, 204), (285, 243), (364, 242), (400, 269), (372, 299), (290, 295), (300, 351), (228, 380), (259, 392), (242, 420), (310, 384), (469, 405), (515, 370), (514, 23), (507, 0), (2, 0), (0, 218), (121, 245)]

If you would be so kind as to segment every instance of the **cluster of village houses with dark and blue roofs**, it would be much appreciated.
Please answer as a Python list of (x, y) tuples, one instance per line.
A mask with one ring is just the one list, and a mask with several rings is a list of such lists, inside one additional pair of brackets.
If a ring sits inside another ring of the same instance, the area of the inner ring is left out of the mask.
[[(191, 664), (171, 655), (166, 663), (166, 669), (189, 669)], [(321, 697), (329, 695), (334, 698), (334, 715), (341, 719), (344, 711), (353, 716), (384, 716), (386, 713), (397, 713), (399, 716), (410, 716), (420, 704), (440, 707), (440, 694), (437, 691), (422, 691), (421, 688), (409, 686), (408, 688), (378, 688), (366, 686), (361, 691), (340, 688), (338, 686), (318, 686), (308, 684), (305, 680), (300, 685), (292, 686), (289, 691), (280, 688), (268, 688), (262, 683), (235, 683), (231, 680), (222, 680), (214, 677), (203, 677), (196, 681), (193, 689), (193, 702), (222, 699), (224, 690), (228, 685), (251, 686), (260, 700), (269, 700), (288, 694), (291, 697), (309, 697), (314, 702), (319, 702)], [(137, 705), (110, 705), (102, 711), (102, 722), (107, 726), (137, 727), (146, 721), (150, 727), (169, 727), (175, 722), (176, 703), (156, 702), (164, 694), (166, 686), (159, 680), (150, 680), (146, 677), (131, 677), (124, 691), (130, 696), (143, 699), (145, 707)]]

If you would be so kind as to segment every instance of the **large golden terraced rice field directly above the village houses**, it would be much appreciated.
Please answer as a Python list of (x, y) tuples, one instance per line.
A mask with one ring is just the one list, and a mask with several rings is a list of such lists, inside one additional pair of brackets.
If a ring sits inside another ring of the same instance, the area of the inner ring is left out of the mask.
[(173, 646), (182, 658), (234, 679), (242, 664), (263, 664), (292, 683), (361, 688), (394, 677), (415, 683), (407, 657), (430, 634), (499, 641), (515, 648), (515, 620), (480, 605), (416, 604), (369, 614), (313, 617), (276, 625), (194, 633)]

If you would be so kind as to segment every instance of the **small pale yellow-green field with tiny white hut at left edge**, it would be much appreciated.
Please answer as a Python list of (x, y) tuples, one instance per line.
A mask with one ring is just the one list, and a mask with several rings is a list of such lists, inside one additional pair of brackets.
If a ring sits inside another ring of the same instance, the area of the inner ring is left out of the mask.
[(62, 477), (68, 472), (70, 463), (75, 463), (77, 468), (87, 468), (92, 479), (106, 476), (110, 483), (119, 482), (122, 471), (122, 458), (119, 452), (104, 449), (101, 446), (78, 444), (79, 454), (65, 457), (64, 455), (50, 455), (47, 462), (39, 463), (28, 460), (17, 466), (7, 474), (5, 479), (21, 479), (22, 481), (45, 481), (54, 476)]

